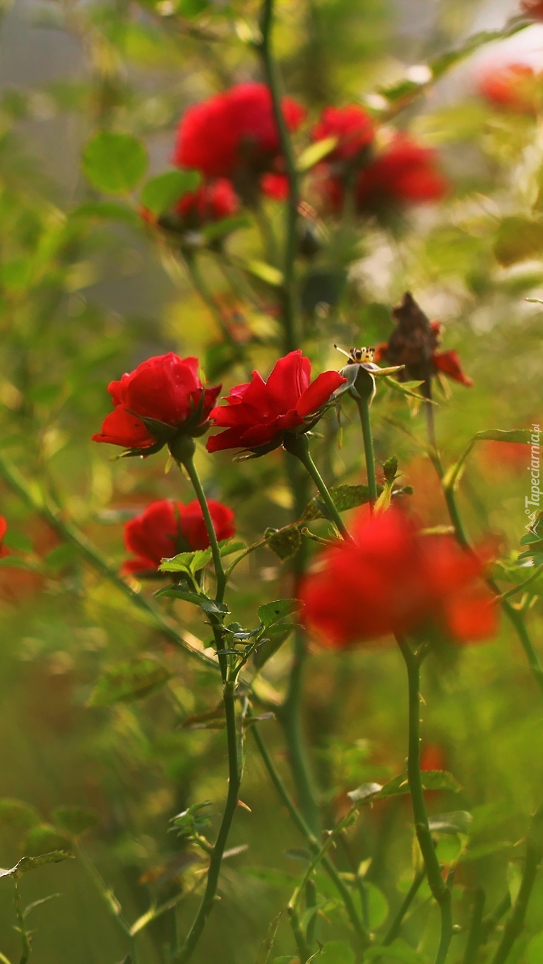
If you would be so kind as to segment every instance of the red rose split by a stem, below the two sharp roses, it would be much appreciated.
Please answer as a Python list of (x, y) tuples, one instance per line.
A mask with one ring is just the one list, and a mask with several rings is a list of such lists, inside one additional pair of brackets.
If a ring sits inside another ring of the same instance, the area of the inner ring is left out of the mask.
[[(219, 542), (230, 539), (235, 532), (231, 509), (212, 498), (207, 505)], [(151, 502), (145, 512), (124, 524), (124, 545), (136, 558), (123, 563), (123, 573), (150, 572), (177, 552), (207, 549), (209, 537), (198, 499), (187, 505), (168, 498)]]

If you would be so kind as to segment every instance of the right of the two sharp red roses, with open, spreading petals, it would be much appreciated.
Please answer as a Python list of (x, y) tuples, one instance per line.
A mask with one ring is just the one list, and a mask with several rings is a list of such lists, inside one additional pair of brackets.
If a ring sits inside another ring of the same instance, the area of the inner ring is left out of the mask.
[(276, 363), (267, 382), (254, 371), (251, 382), (231, 388), (228, 405), (210, 414), (226, 432), (211, 436), (207, 451), (261, 446), (269, 451), (281, 445), (285, 432), (299, 429), (306, 419), (314, 424), (312, 416), (346, 379), (338, 371), (325, 371), (311, 382), (311, 373), (310, 360), (298, 349)]

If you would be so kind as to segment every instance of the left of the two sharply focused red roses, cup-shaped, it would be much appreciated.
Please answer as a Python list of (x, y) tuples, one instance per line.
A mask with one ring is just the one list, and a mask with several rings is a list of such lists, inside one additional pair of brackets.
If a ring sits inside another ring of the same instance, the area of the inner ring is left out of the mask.
[[(106, 415), (94, 442), (110, 442), (124, 448), (161, 447), (176, 435), (201, 435), (221, 386), (204, 388), (198, 376), (198, 359), (180, 359), (173, 352), (142, 362), (111, 382), (107, 389), (115, 409)], [(152, 426), (157, 438), (142, 421), (162, 423)], [(168, 431), (168, 429), (175, 431)]]

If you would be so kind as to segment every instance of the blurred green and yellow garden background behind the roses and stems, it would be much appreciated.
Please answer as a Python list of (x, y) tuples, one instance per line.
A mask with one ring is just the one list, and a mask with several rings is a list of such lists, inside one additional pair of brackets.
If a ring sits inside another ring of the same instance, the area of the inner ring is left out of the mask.
[[(304, 103), (312, 120), (326, 104), (378, 105), (383, 85), (461, 47), (476, 31), (500, 30), (515, 13), (514, 4), (473, 0), (286, 0), (277, 5), (275, 39), (285, 90)], [(153, 498), (191, 496), (186, 482), (166, 473), (162, 454), (149, 462), (109, 461), (110, 452), (90, 441), (108, 411), (107, 383), (170, 350), (197, 354), (209, 376), (226, 386), (243, 380), (245, 362), (222, 358), (214, 318), (182, 262), (138, 218), (137, 192), (121, 199), (124, 217), (100, 207), (82, 174), (81, 151), (96, 130), (122, 130), (145, 142), (150, 174), (167, 170), (186, 106), (260, 77), (248, 42), (257, 20), (253, 0), (36, 0), (2, 10), (0, 447), (36, 497), (55, 499), (115, 567), (124, 557), (123, 520)], [(450, 462), (475, 432), (525, 429), (543, 417), (543, 314), (526, 300), (543, 294), (541, 115), (499, 109), (478, 93), (481, 71), (511, 60), (543, 68), (543, 25), (481, 45), (394, 118), (439, 150), (451, 183), (445, 201), (404, 211), (387, 225), (360, 224), (346, 247), (335, 244), (334, 228), (324, 225), (320, 250), (300, 263), (304, 345), (317, 368), (339, 367), (334, 342), (348, 349), (386, 341), (391, 307), (405, 290), (444, 323), (444, 346), (458, 351), (475, 383), (452, 384), (438, 399), (438, 435)], [(266, 208), (279, 229), (281, 204), (269, 201)], [(228, 244), (238, 265), (235, 283), (213, 253), (202, 254), (204, 275), (242, 332), (248, 363), (265, 372), (279, 350), (276, 291), (251, 278), (247, 297), (247, 275), (239, 264), (262, 257), (250, 222)], [(385, 391), (374, 403), (374, 427), (378, 461), (398, 456), (401, 481), (413, 486), (421, 518), (429, 525), (447, 523), (439, 485), (421, 451), (421, 413)], [(364, 481), (356, 426), (343, 425), (340, 447), (332, 417), (323, 435), (332, 442), (322, 442), (320, 452), (317, 446), (327, 479)], [(525, 532), (528, 451), (478, 443), (459, 495), (473, 538), (496, 535), (511, 565)], [(238, 465), (229, 453), (211, 460), (203, 451), (199, 466), (208, 495), (234, 509), (242, 538), (256, 541), (267, 526), (288, 522), (291, 496), (280, 453)], [(97, 822), (83, 842), (85, 851), (134, 921), (149, 899), (167, 899), (179, 887), (189, 891), (198, 872), (191, 866), (176, 876), (183, 844), (171, 832), (171, 817), (206, 799), (220, 813), (224, 732), (182, 726), (217, 705), (216, 676), (166, 644), (4, 482), (0, 495), (10, 553), (41, 566), (39, 572), (23, 562), (0, 569), (0, 864), (11, 867), (23, 853), (57, 845), (69, 848), (58, 808), (91, 809)], [(509, 570), (499, 575), (503, 588), (510, 588)], [(285, 567), (271, 551), (260, 550), (237, 571), (240, 621), (290, 589)], [(175, 611), (184, 628), (205, 639), (206, 628), (188, 606), (185, 611), (178, 604)], [(535, 593), (528, 619), (540, 642)], [(168, 687), (144, 700), (88, 707), (104, 668), (142, 654), (158, 655), (169, 666), (174, 676)], [(288, 660), (286, 645), (266, 669), (278, 692)], [(465, 923), (476, 886), (486, 888), (489, 908), (507, 887), (513, 893), (518, 888), (519, 842), (543, 798), (541, 694), (506, 626), (492, 643), (429, 660), (423, 686), (422, 749), (464, 788), (455, 796), (442, 792), (429, 805), (474, 815), (470, 859), (460, 864), (454, 891), (456, 919)], [(346, 790), (367, 780), (383, 782), (403, 767), (404, 677), (394, 648), (341, 656), (315, 652), (304, 716), (325, 825), (332, 825), (346, 806)], [(277, 724), (268, 721), (262, 729), (287, 778)], [(222, 900), (196, 964), (256, 961), (269, 922), (304, 872), (291, 852), (301, 842), (249, 736), (242, 799), (250, 811), (236, 816), (231, 846), (244, 849), (225, 865)], [(374, 927), (386, 922), (411, 879), (409, 820), (407, 804), (376, 806), (349, 831), (337, 854), (347, 871), (373, 859), (368, 880)], [(449, 844), (451, 853), (457, 844)], [(541, 886), (511, 964), (541, 959), (540, 945), (529, 944), (543, 931)], [(37, 962), (115, 964), (125, 958), (125, 939), (84, 860), (42, 868), (20, 887), (25, 903), (59, 895), (29, 915)], [(189, 894), (179, 903), (181, 931), (194, 910)], [(420, 948), (418, 960), (431, 951), (435, 918), (422, 887), (406, 928)], [(0, 951), (12, 964), (20, 953), (14, 923), (13, 883), (0, 880)], [(164, 959), (161, 949), (172, 926), (166, 914), (145, 930), (142, 960)], [(333, 908), (322, 927), (328, 940), (345, 936)], [(285, 920), (275, 952), (293, 952)], [(343, 958), (333, 953), (322, 960), (338, 964)], [(451, 959), (459, 960), (459, 951)]]

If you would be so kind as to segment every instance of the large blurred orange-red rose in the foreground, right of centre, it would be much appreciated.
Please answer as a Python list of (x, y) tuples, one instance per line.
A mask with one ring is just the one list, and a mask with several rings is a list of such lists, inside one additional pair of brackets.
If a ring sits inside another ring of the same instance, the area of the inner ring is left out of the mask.
[(482, 562), (450, 536), (422, 536), (397, 509), (359, 513), (354, 542), (320, 556), (306, 577), (302, 618), (325, 646), (343, 649), (432, 625), (461, 643), (496, 628)]

